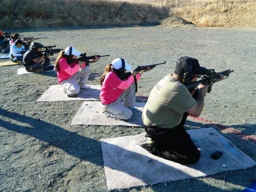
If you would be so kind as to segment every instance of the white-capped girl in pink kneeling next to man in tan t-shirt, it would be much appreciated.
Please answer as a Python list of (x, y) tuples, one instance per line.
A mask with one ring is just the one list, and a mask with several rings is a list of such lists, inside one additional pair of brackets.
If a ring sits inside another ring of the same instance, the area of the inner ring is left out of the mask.
[[(128, 120), (132, 117), (133, 112), (138, 109), (134, 108), (135, 104), (135, 85), (134, 76), (139, 80), (141, 74), (129, 72), (126, 80), (121, 80), (118, 76), (125, 71), (132, 70), (132, 66), (122, 58), (117, 58), (108, 64), (105, 72), (100, 77), (100, 100), (103, 104), (104, 114), (107, 117), (112, 117), (121, 120)], [(124, 99), (124, 103), (121, 101)]]

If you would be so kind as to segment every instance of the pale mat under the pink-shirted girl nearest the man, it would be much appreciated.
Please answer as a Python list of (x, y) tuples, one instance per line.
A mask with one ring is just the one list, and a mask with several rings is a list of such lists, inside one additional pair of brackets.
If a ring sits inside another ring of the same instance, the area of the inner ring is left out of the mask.
[(143, 122), (141, 115), (144, 106), (145, 103), (135, 103), (134, 107), (138, 108), (139, 111), (134, 112), (133, 116), (129, 120), (118, 120), (106, 117), (106, 115), (102, 112), (103, 110), (101, 102), (86, 101), (73, 118), (71, 124), (142, 127)]

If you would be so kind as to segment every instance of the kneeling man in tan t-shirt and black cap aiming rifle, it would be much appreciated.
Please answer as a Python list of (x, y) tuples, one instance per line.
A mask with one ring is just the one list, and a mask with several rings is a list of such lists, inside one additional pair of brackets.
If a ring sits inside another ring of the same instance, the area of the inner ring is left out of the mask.
[(199, 160), (200, 152), (185, 131), (184, 123), (188, 115), (201, 114), (208, 85), (200, 84), (197, 90), (189, 91), (185, 84), (195, 82), (207, 72), (195, 58), (182, 57), (175, 72), (154, 86), (143, 109), (147, 138), (138, 143), (140, 146), (153, 155), (182, 164)]

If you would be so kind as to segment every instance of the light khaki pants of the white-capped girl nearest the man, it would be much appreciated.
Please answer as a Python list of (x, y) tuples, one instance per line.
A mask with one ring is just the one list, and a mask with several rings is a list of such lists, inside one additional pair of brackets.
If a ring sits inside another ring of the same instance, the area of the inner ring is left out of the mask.
[[(122, 95), (115, 102), (109, 105), (103, 105), (105, 109), (103, 113), (107, 117), (129, 120), (133, 115), (133, 112), (129, 108), (134, 107), (135, 96), (135, 84), (133, 83), (122, 92)], [(121, 103), (123, 99), (124, 104)]]

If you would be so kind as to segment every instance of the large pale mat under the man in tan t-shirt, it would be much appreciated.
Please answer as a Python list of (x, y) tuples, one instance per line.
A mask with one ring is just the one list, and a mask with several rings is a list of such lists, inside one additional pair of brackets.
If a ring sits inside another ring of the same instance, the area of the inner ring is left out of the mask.
[[(200, 160), (194, 165), (181, 165), (150, 154), (137, 144), (145, 133), (102, 139), (108, 189), (121, 190), (256, 166), (250, 157), (212, 128), (190, 130), (188, 133), (197, 141), (195, 145), (201, 153)], [(210, 156), (216, 150), (223, 155), (214, 160)]]

